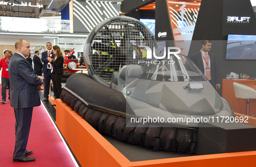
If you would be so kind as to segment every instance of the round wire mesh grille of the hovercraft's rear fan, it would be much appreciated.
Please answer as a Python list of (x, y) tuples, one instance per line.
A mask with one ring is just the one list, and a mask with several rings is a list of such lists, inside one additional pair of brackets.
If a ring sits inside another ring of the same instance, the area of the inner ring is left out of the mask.
[(146, 64), (146, 50), (139, 45), (146, 45), (153, 51), (154, 43), (146, 29), (130, 20), (110, 22), (94, 36), (90, 55), (92, 67), (109, 84), (113, 71), (119, 71), (123, 65), (143, 60), (145, 63), (139, 65), (147, 70), (152, 64)]

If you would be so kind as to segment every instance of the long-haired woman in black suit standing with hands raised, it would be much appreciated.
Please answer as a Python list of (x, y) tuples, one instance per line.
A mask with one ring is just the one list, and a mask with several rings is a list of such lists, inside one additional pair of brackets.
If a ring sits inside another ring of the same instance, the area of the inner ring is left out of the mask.
[(52, 84), (55, 99), (59, 99), (62, 93), (62, 75), (63, 75), (63, 62), (64, 57), (62, 55), (61, 49), (55, 45), (52, 47), (52, 51), (55, 55), (55, 58), (47, 58), (48, 61), (53, 66), (52, 71)]

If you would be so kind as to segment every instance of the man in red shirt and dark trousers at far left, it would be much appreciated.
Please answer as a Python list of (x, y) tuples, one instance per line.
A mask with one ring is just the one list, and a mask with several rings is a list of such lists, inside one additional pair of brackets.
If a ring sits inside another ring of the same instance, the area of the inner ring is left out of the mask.
[[(1, 82), (2, 82), (1, 104), (6, 103), (6, 88), (7, 88), (7, 85), (10, 87), (9, 72), (8, 72), (8, 66), (9, 66), (9, 61), (10, 61), (10, 51), (5, 50), (4, 56), (5, 56), (5, 58), (2, 58), (0, 61), (0, 70), (3, 67), (2, 77), (1, 77)], [(9, 89), (9, 101), (10, 101), (10, 89)]]

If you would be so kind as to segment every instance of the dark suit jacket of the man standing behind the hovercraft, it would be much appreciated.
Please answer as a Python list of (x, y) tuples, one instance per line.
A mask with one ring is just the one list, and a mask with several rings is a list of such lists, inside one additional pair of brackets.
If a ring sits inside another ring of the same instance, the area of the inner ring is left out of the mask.
[[(216, 62), (215, 55), (213, 53), (208, 52), (210, 58), (210, 68), (211, 68), (211, 84), (216, 89), (216, 84), (221, 82), (220, 78), (220, 69)], [(190, 56), (190, 59), (196, 64), (199, 70), (204, 74), (204, 62), (202, 59), (201, 52), (198, 51), (197, 53)]]

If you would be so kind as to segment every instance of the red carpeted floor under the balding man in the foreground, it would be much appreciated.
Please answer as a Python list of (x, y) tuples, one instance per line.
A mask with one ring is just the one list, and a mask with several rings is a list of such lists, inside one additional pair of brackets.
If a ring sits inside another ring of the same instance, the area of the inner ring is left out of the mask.
[(27, 150), (34, 152), (30, 157), (35, 157), (36, 161), (29, 163), (13, 162), (14, 125), (14, 111), (7, 100), (7, 103), (0, 104), (0, 167), (78, 167), (42, 103), (41, 106), (33, 109), (27, 145)]

